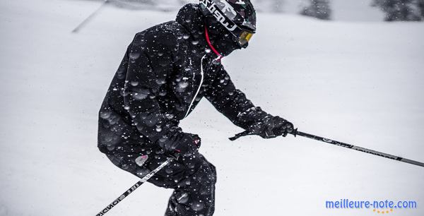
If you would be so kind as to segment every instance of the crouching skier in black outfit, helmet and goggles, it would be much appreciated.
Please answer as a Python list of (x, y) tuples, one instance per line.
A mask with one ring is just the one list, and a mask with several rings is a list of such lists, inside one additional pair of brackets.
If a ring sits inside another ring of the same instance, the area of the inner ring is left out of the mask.
[(117, 167), (172, 188), (165, 215), (213, 215), (216, 168), (198, 152), (201, 139), (183, 132), (202, 97), (233, 124), (262, 138), (286, 136), (293, 124), (255, 107), (235, 88), (220, 59), (246, 48), (256, 30), (249, 0), (201, 0), (174, 21), (135, 35), (99, 112), (98, 148)]

